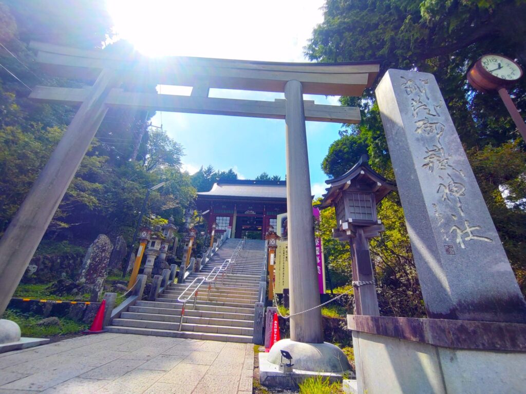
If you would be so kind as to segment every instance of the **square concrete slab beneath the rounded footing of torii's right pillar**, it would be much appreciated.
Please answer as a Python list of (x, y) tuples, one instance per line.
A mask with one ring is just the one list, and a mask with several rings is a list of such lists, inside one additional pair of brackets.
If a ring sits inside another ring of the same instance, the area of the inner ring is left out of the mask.
[[(312, 372), (301, 369), (293, 369), (292, 372), (284, 374), (284, 372), (279, 371), (279, 365), (268, 361), (268, 356), (268, 353), (259, 354), (259, 382), (266, 387), (297, 390), (299, 383), (311, 377), (322, 376), (324, 379), (328, 378), (330, 382), (341, 382), (343, 379), (342, 374)], [(349, 372), (349, 376), (351, 374), (352, 372)]]

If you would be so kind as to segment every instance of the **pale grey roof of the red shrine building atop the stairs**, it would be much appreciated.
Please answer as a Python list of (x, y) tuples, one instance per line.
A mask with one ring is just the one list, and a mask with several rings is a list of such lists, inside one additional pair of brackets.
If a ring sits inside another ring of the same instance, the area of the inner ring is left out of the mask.
[(199, 198), (287, 199), (286, 181), (229, 180), (214, 183), (208, 192), (197, 193)]

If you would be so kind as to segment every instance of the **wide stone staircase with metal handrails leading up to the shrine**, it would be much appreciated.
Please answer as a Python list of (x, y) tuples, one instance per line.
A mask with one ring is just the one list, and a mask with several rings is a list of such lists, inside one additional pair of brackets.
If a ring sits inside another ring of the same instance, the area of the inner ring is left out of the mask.
[[(180, 338), (221, 340), (251, 343), (254, 327), (254, 303), (265, 259), (265, 241), (247, 240), (222, 280), (219, 275), (216, 287), (212, 285), (210, 296), (208, 284), (199, 288), (194, 308), (194, 297), (185, 306), (183, 327), (179, 320), (183, 304), (177, 297), (196, 277), (206, 277), (214, 267), (230, 258), (239, 239), (226, 240), (200, 272), (191, 273), (184, 284), (173, 283), (155, 301), (137, 301), (113, 319), (106, 327), (112, 333), (160, 335)], [(195, 286), (190, 287), (191, 290)], [(187, 294), (191, 291), (187, 292)]]

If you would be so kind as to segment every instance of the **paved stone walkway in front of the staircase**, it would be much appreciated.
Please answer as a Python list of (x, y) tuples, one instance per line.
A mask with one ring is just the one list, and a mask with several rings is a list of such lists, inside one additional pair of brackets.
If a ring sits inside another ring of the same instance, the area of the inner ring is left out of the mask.
[(251, 394), (254, 345), (99, 334), (0, 355), (0, 394)]

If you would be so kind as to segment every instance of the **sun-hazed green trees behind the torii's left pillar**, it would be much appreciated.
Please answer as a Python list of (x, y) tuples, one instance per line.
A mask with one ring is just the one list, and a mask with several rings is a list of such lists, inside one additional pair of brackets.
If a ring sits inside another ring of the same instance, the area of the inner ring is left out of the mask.
[[(36, 67), (27, 43), (94, 48), (112, 28), (104, 5), (79, 0), (0, 2), (0, 64), (29, 86), (82, 86), (76, 81), (47, 78)], [(105, 47), (129, 55), (130, 44), (119, 41)], [(21, 63), (22, 62), (22, 63)], [(0, 236), (67, 129), (75, 108), (40, 104), (27, 99), (28, 89), (0, 70)], [(128, 83), (129, 91), (155, 92), (142, 79)], [(104, 233), (111, 239), (131, 240), (147, 188), (166, 185), (150, 194), (147, 212), (183, 223), (183, 211), (195, 197), (190, 176), (180, 171), (183, 148), (162, 129), (148, 127), (154, 112), (112, 108), (80, 164), (39, 253), (69, 253), (68, 240), (87, 246)], [(144, 215), (148, 224), (147, 217)], [(56, 241), (56, 244), (46, 242)], [(69, 243), (71, 245), (71, 243)]]

